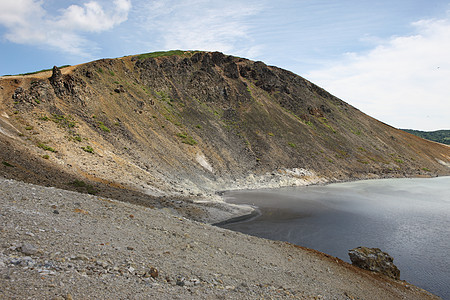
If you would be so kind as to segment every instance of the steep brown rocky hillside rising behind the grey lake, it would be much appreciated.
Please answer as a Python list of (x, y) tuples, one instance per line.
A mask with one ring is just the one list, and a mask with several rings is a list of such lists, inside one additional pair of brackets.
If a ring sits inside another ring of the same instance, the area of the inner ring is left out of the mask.
[(229, 188), (450, 174), (449, 147), (291, 72), (217, 52), (103, 59), (0, 87), (0, 172), (32, 183), (158, 205)]

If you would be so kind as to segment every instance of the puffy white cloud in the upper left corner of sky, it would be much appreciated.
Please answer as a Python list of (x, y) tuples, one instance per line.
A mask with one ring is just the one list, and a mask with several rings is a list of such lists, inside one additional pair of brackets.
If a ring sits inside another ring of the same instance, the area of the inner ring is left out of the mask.
[(13, 43), (55, 47), (64, 52), (86, 55), (93, 46), (83, 33), (109, 30), (128, 18), (131, 0), (115, 0), (113, 9), (104, 10), (98, 1), (71, 5), (59, 16), (50, 15), (42, 0), (0, 2), (0, 25), (5, 38)]

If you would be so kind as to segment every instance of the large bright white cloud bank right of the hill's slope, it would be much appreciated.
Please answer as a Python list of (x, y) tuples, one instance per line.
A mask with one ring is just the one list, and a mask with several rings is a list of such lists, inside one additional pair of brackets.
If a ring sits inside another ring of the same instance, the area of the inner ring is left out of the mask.
[(450, 20), (421, 20), (416, 33), (306, 77), (369, 115), (400, 128), (450, 128)]

